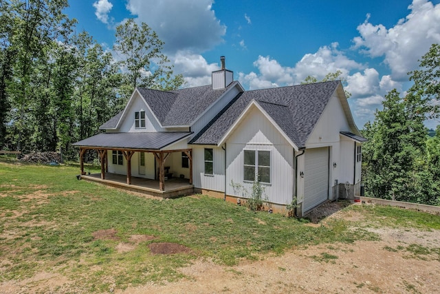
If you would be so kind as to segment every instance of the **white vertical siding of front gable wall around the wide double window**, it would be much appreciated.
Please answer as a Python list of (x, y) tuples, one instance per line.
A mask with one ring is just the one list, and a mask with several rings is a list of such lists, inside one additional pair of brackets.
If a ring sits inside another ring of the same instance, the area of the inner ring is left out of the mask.
[(239, 127), (226, 141), (226, 191), (228, 195), (245, 197), (231, 185), (233, 180), (252, 190), (252, 182), (243, 181), (243, 149), (270, 151), (270, 184), (262, 183), (268, 201), (276, 204), (292, 202), (294, 195), (294, 149), (283, 135), (256, 107), (252, 107)]

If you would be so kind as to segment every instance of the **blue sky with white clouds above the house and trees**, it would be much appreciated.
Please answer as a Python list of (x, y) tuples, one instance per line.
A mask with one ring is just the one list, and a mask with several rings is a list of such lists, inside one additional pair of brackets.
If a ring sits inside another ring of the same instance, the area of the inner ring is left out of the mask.
[[(440, 0), (71, 0), (65, 12), (109, 50), (133, 18), (165, 41), (188, 87), (210, 84), (220, 56), (247, 90), (296, 85), (341, 70), (358, 127), (440, 43)], [(428, 121), (435, 127), (437, 121)]]

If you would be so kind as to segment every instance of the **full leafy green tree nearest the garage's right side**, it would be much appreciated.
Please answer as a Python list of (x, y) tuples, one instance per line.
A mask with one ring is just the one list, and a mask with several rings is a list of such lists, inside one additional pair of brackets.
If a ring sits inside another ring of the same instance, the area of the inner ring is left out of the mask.
[(417, 96), (401, 98), (389, 92), (377, 111), (373, 124), (367, 123), (363, 135), (364, 182), (367, 196), (409, 202), (430, 203), (435, 193), (423, 158), (426, 154), (425, 113)]

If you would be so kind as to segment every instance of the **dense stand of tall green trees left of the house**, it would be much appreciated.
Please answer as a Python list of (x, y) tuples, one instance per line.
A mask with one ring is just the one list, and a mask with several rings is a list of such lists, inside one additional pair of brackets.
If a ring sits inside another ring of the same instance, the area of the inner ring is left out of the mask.
[(93, 136), (135, 87), (184, 84), (145, 23), (116, 28), (113, 52), (63, 10), (67, 0), (0, 0), (0, 149), (60, 151)]

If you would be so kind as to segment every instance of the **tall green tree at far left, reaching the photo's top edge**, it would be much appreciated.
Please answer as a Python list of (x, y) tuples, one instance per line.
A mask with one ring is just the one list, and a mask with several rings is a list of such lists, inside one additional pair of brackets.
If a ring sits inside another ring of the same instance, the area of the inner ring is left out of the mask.
[(45, 59), (47, 48), (56, 41), (57, 37), (68, 25), (69, 21), (63, 14), (67, 8), (67, 0), (10, 0), (10, 19), (12, 20), (12, 38), (10, 47), (15, 54), (12, 68), (12, 79), (8, 85), (8, 93), (14, 121), (14, 140), (17, 149), (28, 149), (28, 141), (33, 134), (32, 103), (39, 95), (34, 81), (37, 63)]

